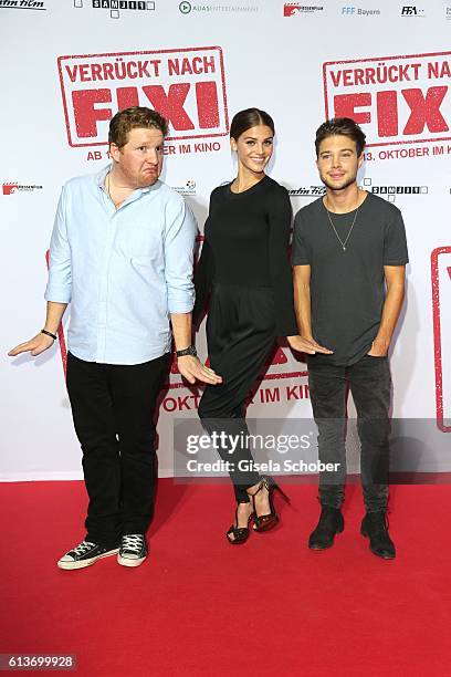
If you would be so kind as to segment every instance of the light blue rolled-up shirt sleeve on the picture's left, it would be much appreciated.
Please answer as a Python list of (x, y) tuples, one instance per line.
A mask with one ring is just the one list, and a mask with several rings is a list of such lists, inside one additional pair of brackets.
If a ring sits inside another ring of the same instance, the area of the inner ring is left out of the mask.
[(70, 303), (72, 295), (71, 247), (67, 239), (65, 187), (57, 204), (50, 241), (49, 281), (44, 298), (55, 303)]

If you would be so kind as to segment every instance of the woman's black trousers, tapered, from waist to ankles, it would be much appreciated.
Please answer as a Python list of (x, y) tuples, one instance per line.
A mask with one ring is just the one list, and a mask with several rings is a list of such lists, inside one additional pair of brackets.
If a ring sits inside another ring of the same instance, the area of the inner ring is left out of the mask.
[(244, 441), (249, 435), (244, 404), (265, 364), (275, 338), (274, 299), (271, 288), (213, 287), (207, 320), (207, 343), (211, 367), (222, 384), (207, 386), (199, 403), (199, 416), (208, 433), (238, 436), (240, 444), (219, 449), (230, 464), (237, 501), (247, 502), (247, 489), (261, 479), (252, 469), (253, 458)]

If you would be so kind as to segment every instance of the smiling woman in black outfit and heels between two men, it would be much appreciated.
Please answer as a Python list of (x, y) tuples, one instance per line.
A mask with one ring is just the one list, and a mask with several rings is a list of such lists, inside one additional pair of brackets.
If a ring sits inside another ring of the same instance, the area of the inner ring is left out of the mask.
[[(199, 404), (202, 424), (210, 434), (226, 431), (245, 439), (245, 398), (275, 337), (286, 336), (294, 350), (314, 351), (297, 335), (294, 315), (287, 253), (290, 197), (264, 173), (273, 153), (274, 123), (264, 111), (241, 111), (232, 119), (230, 137), (238, 157), (238, 176), (216, 188), (210, 197), (195, 273), (193, 321), (198, 322), (211, 295), (208, 352), (222, 384), (206, 387)], [(234, 464), (230, 476), (237, 510), (227, 538), (230, 543), (243, 543), (252, 519), (255, 531), (268, 531), (276, 524), (272, 492), (279, 487), (272, 478), (252, 469), (245, 442), (232, 455), (226, 446), (219, 454)]]

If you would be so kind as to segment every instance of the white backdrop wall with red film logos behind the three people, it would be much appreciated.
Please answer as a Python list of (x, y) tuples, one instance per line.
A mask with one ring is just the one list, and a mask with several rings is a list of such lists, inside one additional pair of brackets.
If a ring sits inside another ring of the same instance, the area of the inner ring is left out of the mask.
[[(294, 212), (323, 194), (317, 126), (335, 115), (361, 124), (359, 184), (402, 210), (410, 254), (391, 350), (394, 468), (451, 470), (451, 0), (0, 0), (0, 44), (2, 480), (81, 477), (64, 332), (38, 358), (6, 353), (43, 325), (61, 186), (108, 163), (108, 122), (136, 104), (169, 119), (161, 178), (185, 196), (200, 236), (211, 190), (234, 176), (237, 111), (274, 117), (270, 174)], [(203, 327), (198, 346), (206, 360)], [(196, 417), (200, 395), (172, 366), (161, 476), (174, 469), (174, 423)], [(311, 417), (306, 365), (283, 343), (248, 415), (277, 419), (279, 430)]]

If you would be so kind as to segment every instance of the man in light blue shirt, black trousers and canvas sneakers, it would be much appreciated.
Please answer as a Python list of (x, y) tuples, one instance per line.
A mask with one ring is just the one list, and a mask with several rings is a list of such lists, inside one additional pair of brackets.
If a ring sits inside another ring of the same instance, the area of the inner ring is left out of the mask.
[[(159, 180), (167, 123), (133, 107), (109, 125), (112, 165), (63, 187), (50, 246), (43, 330), (10, 355), (39, 355), (56, 338), (69, 303), (67, 393), (90, 497), (85, 539), (61, 569), (116, 554), (147, 556), (156, 485), (156, 400), (171, 330), (189, 383), (220, 383), (191, 345), (196, 223)], [(170, 320), (170, 323), (169, 323)]]

